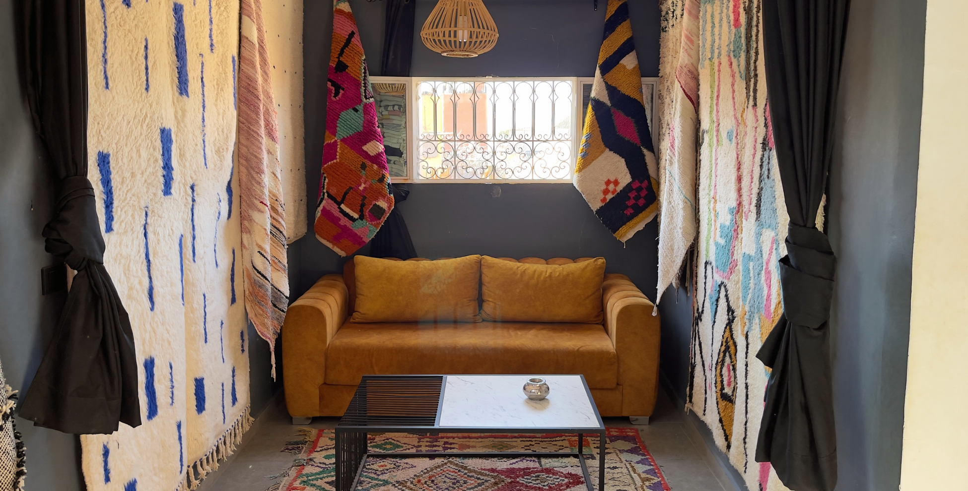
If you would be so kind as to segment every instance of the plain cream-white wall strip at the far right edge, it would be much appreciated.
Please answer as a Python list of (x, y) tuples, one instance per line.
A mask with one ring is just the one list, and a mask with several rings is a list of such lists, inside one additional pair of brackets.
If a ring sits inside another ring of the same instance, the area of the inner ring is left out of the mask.
[(965, 489), (968, 2), (928, 0), (901, 489)]

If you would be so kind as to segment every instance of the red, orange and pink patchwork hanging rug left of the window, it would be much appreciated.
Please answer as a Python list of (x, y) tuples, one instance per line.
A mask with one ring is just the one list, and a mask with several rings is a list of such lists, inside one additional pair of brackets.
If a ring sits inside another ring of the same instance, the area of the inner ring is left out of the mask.
[(366, 55), (348, 0), (333, 3), (326, 135), (314, 229), (341, 256), (366, 245), (393, 209), (393, 190)]

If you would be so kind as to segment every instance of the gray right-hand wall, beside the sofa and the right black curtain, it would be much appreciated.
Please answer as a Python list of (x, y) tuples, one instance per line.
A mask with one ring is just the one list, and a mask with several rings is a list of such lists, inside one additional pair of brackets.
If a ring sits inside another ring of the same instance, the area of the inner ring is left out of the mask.
[[(921, 137), (925, 0), (852, 0), (828, 233), (836, 252), (832, 368), (838, 490), (900, 483)], [(670, 290), (662, 369), (685, 396), (691, 299)]]

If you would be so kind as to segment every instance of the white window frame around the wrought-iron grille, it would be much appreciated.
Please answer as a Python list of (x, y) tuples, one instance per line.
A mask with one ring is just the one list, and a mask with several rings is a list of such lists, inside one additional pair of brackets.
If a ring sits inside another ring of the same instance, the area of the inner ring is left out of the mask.
[[(458, 178), (458, 179), (420, 179), (416, 175), (416, 165), (417, 162), (417, 149), (419, 148), (419, 138), (417, 131), (417, 100), (416, 100), (416, 88), (424, 81), (440, 81), (440, 82), (475, 82), (475, 81), (487, 81), (487, 82), (501, 82), (501, 81), (570, 81), (571, 82), (571, 101), (573, 104), (572, 117), (571, 117), (571, 145), (572, 145), (572, 160), (571, 165), (571, 177), (568, 179), (479, 179), (479, 178)], [(643, 97), (650, 97), (651, 99), (651, 111), (650, 111), (650, 132), (652, 134), (652, 146), (658, 146), (657, 140), (657, 127), (654, 124), (657, 121), (658, 116), (658, 104), (657, 104), (657, 88), (658, 88), (658, 77), (642, 77), (643, 85)], [(575, 161), (578, 159), (578, 146), (581, 143), (581, 131), (578, 128), (579, 124), (584, 125), (585, 114), (582, 112), (582, 94), (583, 86), (585, 84), (590, 84), (594, 81), (594, 77), (577, 77), (577, 76), (371, 76), (370, 83), (404, 83), (407, 85), (407, 176), (400, 177), (391, 176), (390, 181), (392, 183), (409, 183), (409, 184), (536, 184), (536, 183), (547, 183), (547, 184), (571, 184), (574, 179), (574, 169)], [(651, 93), (646, 93), (645, 86), (651, 84)], [(581, 122), (581, 123), (579, 123)]]

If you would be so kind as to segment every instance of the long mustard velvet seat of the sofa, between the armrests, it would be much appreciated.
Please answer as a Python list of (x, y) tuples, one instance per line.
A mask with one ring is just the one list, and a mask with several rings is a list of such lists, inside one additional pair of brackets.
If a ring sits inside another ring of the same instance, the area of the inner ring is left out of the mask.
[[(326, 384), (363, 375), (582, 374), (591, 389), (618, 383), (619, 359), (602, 326), (348, 322), (326, 350)], [(524, 384), (524, 382), (522, 382)]]

